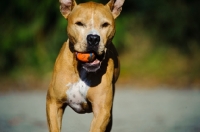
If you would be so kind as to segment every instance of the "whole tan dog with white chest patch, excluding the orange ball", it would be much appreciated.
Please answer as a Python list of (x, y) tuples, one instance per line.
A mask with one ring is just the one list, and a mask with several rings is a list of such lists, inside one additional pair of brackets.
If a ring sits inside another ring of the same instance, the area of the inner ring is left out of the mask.
[[(47, 92), (46, 112), (50, 132), (60, 132), (66, 106), (77, 113), (93, 112), (90, 132), (108, 132), (112, 126), (114, 84), (119, 76), (117, 51), (112, 43), (114, 19), (124, 0), (106, 5), (60, 0), (68, 20), (68, 40), (56, 59)], [(77, 53), (93, 53), (95, 59), (82, 62)], [(70, 120), (70, 119), (69, 119)]]

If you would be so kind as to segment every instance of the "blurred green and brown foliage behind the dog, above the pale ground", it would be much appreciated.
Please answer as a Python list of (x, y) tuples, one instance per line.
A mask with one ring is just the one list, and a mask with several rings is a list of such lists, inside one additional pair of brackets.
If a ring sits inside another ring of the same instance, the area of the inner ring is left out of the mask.
[[(197, 0), (126, 0), (113, 40), (121, 59), (118, 84), (199, 89), (199, 5)], [(66, 25), (58, 0), (1, 1), (1, 90), (47, 89), (67, 40)]]

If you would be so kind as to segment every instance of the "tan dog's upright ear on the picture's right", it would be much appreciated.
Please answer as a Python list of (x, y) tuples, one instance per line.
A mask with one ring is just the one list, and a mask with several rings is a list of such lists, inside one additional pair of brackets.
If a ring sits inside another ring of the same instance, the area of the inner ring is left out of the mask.
[(110, 8), (113, 17), (117, 18), (122, 11), (122, 5), (125, 0), (110, 0), (106, 5)]

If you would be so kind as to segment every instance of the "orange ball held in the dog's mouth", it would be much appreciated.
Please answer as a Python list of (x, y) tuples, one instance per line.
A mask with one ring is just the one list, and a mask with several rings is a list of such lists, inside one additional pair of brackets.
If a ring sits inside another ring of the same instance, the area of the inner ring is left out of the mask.
[(76, 58), (82, 62), (91, 62), (95, 59), (94, 53), (76, 53)]

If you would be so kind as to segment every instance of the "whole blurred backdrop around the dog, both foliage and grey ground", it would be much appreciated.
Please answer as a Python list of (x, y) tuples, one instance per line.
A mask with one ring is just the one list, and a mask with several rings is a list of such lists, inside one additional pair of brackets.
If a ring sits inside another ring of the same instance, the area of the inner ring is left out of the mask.
[[(46, 90), (67, 40), (58, 1), (0, 2), (1, 132), (47, 132)], [(199, 13), (199, 0), (125, 1), (113, 40), (121, 60), (114, 132), (200, 131)], [(89, 117), (67, 109), (63, 131), (88, 131)]]

